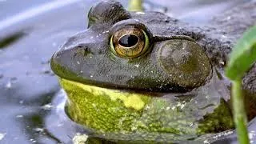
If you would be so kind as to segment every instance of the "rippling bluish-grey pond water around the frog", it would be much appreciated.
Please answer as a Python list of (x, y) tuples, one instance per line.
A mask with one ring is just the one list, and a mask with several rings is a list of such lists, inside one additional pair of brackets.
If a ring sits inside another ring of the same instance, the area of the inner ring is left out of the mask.
[[(203, 23), (242, 2), (246, 1), (149, 0), (145, 6)], [(0, 0), (0, 143), (72, 143), (75, 134), (84, 132), (66, 117), (66, 95), (49, 62), (66, 38), (86, 29), (86, 14), (94, 3)], [(249, 129), (256, 142), (254, 121)], [(223, 141), (236, 143), (234, 134)]]

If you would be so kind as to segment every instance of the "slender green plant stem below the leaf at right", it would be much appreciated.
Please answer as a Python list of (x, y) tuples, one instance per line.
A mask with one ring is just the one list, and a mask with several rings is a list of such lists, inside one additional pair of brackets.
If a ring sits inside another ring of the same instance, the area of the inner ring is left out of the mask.
[(232, 87), (234, 123), (237, 129), (238, 142), (240, 144), (249, 144), (247, 132), (247, 118), (242, 96), (242, 78), (234, 80)]

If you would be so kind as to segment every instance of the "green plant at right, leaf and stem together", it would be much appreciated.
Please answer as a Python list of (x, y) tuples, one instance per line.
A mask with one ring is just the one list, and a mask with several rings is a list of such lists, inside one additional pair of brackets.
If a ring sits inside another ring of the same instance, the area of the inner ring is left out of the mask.
[(234, 123), (239, 143), (249, 144), (246, 111), (242, 95), (242, 77), (256, 61), (256, 26), (246, 30), (230, 54), (226, 76), (232, 80)]

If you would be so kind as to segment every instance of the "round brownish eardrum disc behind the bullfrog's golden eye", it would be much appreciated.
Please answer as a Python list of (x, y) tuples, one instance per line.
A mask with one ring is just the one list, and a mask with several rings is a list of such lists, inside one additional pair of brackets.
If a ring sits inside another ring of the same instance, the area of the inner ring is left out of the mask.
[(162, 42), (158, 54), (162, 69), (180, 86), (202, 86), (211, 74), (210, 61), (196, 42), (167, 40)]

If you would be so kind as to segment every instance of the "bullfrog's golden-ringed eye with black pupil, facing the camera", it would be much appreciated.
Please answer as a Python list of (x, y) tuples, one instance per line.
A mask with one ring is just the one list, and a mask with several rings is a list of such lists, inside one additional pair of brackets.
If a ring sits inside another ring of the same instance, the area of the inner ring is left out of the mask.
[(125, 26), (110, 39), (111, 51), (122, 58), (136, 58), (149, 49), (149, 38), (144, 30)]

